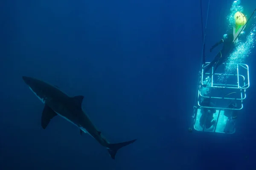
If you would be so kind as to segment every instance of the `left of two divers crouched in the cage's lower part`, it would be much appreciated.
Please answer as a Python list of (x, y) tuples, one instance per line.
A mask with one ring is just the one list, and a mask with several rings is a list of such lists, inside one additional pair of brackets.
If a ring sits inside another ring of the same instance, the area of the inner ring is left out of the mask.
[[(210, 102), (210, 98), (206, 98), (201, 102), (202, 106), (206, 107), (214, 107), (215, 105)], [(215, 108), (202, 108), (201, 109), (202, 116), (200, 118), (200, 126), (205, 128), (210, 128), (212, 125), (216, 124), (216, 120), (213, 120), (213, 114), (216, 113)]]

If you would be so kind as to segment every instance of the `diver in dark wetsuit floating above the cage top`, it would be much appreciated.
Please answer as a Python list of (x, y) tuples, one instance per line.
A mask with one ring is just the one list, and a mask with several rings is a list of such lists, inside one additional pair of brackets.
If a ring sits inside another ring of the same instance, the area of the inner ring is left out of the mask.
[[(210, 62), (208, 65), (204, 67), (204, 76), (207, 71), (209, 71), (210, 68), (214, 65), (213, 72), (212, 74), (215, 73), (216, 69), (218, 68), (219, 65), (221, 65), (223, 62), (227, 62), (227, 58), (230, 56), (231, 52), (233, 51), (235, 45), (234, 45), (234, 36), (233, 34), (224, 34), (224, 39), (221, 39), (219, 42), (217, 42), (215, 45), (213, 45), (210, 48), (210, 52), (223, 43), (223, 47), (221, 51), (218, 52), (218, 54), (214, 57), (212, 62)], [(212, 75), (211, 74), (211, 75)], [(211, 77), (211, 76), (210, 76)]]

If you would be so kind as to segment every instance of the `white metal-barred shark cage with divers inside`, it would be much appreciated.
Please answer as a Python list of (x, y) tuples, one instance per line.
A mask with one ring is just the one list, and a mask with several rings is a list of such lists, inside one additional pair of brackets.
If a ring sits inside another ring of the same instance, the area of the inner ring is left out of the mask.
[(235, 133), (236, 119), (250, 87), (248, 65), (222, 63), (219, 73), (214, 72), (213, 67), (204, 73), (207, 65), (209, 62), (202, 65), (199, 75), (193, 128), (202, 132)]

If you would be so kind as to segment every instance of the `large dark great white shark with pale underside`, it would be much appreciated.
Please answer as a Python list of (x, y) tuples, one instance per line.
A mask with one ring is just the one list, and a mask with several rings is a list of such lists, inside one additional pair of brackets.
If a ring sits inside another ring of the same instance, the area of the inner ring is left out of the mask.
[(70, 97), (55, 85), (50, 85), (47, 82), (32, 77), (23, 76), (22, 78), (30, 90), (44, 103), (44, 110), (41, 116), (41, 126), (43, 129), (46, 129), (53, 117), (59, 115), (76, 125), (81, 134), (83, 132), (88, 133), (99, 144), (106, 147), (112, 159), (115, 159), (117, 150), (137, 140), (134, 139), (116, 144), (109, 143), (81, 108), (84, 96)]

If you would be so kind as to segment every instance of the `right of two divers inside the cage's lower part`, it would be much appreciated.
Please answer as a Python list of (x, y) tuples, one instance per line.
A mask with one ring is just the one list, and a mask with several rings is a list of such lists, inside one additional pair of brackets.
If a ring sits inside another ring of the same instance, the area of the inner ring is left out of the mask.
[[(228, 105), (228, 108), (230, 109), (236, 109), (238, 108), (238, 105), (236, 102), (232, 102)], [(235, 129), (236, 124), (236, 117), (237, 117), (238, 110), (225, 110), (224, 116), (227, 116), (227, 123), (224, 128), (225, 133), (232, 133)]]

